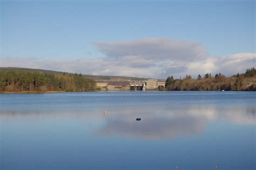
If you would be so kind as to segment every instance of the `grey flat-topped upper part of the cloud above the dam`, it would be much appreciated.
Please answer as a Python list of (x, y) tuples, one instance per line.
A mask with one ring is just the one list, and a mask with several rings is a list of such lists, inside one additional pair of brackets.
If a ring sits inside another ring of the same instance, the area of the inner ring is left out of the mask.
[(189, 60), (207, 57), (200, 43), (190, 43), (171, 38), (145, 38), (122, 42), (95, 42), (98, 49), (107, 57), (137, 56), (154, 61)]

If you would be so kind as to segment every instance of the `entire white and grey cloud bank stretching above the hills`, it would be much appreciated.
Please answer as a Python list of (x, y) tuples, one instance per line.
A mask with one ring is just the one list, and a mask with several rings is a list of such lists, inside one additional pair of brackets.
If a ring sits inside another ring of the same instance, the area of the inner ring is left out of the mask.
[(255, 53), (237, 53), (210, 57), (200, 43), (171, 38), (146, 38), (122, 42), (95, 42), (105, 57), (77, 59), (44, 59), (3, 57), (1, 66), (28, 67), (84, 74), (179, 78), (186, 74), (198, 76), (207, 72), (231, 76), (255, 67)]

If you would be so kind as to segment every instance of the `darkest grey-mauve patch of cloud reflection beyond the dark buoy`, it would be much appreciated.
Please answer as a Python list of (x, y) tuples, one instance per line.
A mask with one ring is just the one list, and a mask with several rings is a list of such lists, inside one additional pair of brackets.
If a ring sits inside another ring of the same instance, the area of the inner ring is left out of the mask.
[(198, 134), (203, 131), (207, 119), (196, 117), (149, 118), (140, 122), (113, 119), (100, 128), (99, 134), (124, 135), (146, 139), (175, 138), (182, 135)]

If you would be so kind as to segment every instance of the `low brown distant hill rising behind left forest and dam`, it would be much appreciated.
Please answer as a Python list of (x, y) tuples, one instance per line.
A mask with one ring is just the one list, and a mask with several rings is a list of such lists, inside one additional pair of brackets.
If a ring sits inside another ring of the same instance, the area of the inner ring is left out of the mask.
[[(0, 71), (32, 71), (32, 72), (44, 72), (44, 73), (52, 73), (52, 74), (69, 74), (68, 72), (61, 71), (52, 71), (52, 70), (42, 70), (42, 69), (28, 69), (28, 68), (20, 68), (20, 67), (0, 67)], [(100, 75), (89, 75), (83, 74), (83, 77), (91, 78), (93, 80), (100, 81), (128, 81), (128, 80), (146, 80), (150, 78), (138, 78), (138, 77), (125, 77), (125, 76), (100, 76)]]

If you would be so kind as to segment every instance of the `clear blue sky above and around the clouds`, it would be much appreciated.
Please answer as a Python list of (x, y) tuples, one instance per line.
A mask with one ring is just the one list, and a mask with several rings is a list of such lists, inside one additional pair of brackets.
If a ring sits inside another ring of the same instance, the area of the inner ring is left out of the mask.
[(200, 43), (207, 57), (255, 53), (255, 1), (1, 2), (2, 59), (111, 57), (95, 42), (145, 38)]

